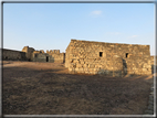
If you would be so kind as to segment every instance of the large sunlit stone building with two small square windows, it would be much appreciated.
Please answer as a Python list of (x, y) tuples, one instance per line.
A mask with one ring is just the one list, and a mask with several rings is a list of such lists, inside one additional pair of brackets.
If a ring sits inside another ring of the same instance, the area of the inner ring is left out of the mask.
[(73, 73), (111, 76), (151, 74), (149, 45), (71, 40), (65, 67)]

